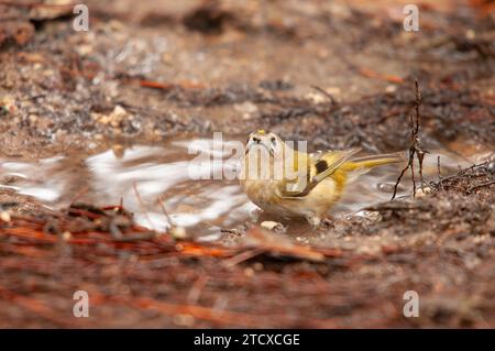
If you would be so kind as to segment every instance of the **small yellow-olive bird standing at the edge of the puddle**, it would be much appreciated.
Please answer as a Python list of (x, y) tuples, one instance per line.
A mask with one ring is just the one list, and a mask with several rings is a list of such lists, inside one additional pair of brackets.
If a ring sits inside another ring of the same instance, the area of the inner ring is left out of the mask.
[(240, 184), (265, 212), (305, 217), (320, 224), (345, 186), (375, 166), (405, 161), (403, 153), (355, 157), (361, 149), (308, 154), (278, 135), (258, 130), (250, 134), (241, 163)]

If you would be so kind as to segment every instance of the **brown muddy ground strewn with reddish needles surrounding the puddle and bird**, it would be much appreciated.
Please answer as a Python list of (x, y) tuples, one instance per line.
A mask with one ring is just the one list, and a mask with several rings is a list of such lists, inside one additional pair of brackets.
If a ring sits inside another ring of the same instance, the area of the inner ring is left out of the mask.
[(400, 1), (87, 1), (75, 32), (70, 6), (0, 1), (3, 158), (258, 128), (406, 150), (417, 79), (422, 147), (477, 164), (372, 218), (298, 238), (246, 222), (211, 244), (119, 204), (51, 210), (1, 188), (0, 327), (495, 327), (494, 3), (418, 3), (407, 33)]

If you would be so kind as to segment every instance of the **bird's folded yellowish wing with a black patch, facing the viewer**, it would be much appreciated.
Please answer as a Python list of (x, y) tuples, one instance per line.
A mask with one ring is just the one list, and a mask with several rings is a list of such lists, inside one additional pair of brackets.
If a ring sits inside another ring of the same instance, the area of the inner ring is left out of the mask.
[(283, 180), (276, 188), (276, 195), (284, 199), (301, 199), (321, 180), (331, 175), (345, 161), (360, 152), (361, 149), (345, 151), (328, 151), (311, 155), (307, 163), (306, 174), (294, 182)]

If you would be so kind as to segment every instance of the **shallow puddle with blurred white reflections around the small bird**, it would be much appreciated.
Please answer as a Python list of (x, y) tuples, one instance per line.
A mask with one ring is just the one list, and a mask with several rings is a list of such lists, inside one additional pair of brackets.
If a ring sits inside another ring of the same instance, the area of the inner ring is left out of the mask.
[[(190, 232), (200, 232), (208, 240), (217, 238), (220, 228), (244, 223), (256, 208), (237, 180), (193, 180), (189, 176), (190, 161), (197, 154), (189, 154), (188, 150), (195, 147), (219, 155), (224, 161), (209, 166), (196, 165), (196, 178), (235, 167), (239, 160), (232, 160), (230, 153), (227, 154), (227, 143), (213, 143), (208, 139), (175, 140), (164, 146), (113, 149), (86, 158), (57, 156), (37, 162), (0, 160), (0, 189), (33, 196), (51, 208), (66, 207), (75, 198), (97, 206), (119, 204), (122, 199), (140, 224), (156, 230), (165, 230), (169, 226), (158, 204), (158, 198), (163, 198), (175, 224), (187, 227)], [(444, 150), (431, 152), (425, 160), (427, 180), (437, 177), (438, 155), (441, 155), (443, 176), (474, 161)], [(348, 187), (333, 212), (362, 216), (360, 209), (363, 207), (389, 199), (399, 168), (398, 165), (388, 165), (363, 175)], [(410, 180), (406, 174), (399, 195), (405, 195), (408, 189)], [(293, 227), (289, 232), (298, 226), (289, 226)]]

